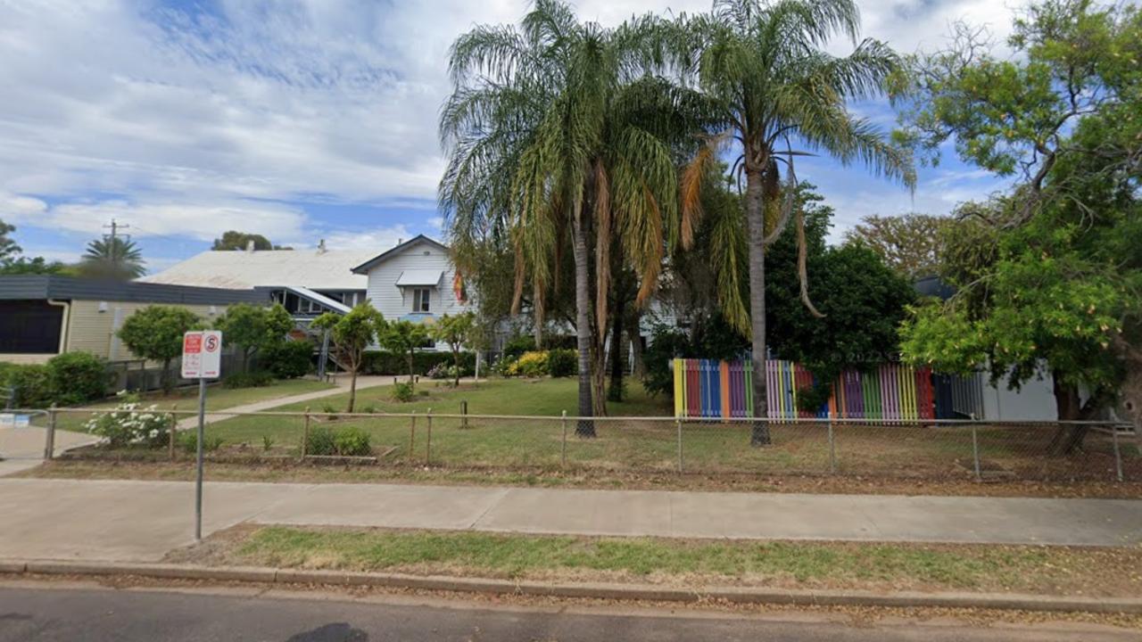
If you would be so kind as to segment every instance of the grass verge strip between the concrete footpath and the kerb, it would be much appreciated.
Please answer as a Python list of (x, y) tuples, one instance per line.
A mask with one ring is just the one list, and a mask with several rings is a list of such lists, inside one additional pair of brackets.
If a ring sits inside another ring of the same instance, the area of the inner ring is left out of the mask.
[[(244, 525), (168, 561), (700, 586), (1137, 595), (1142, 549)], [(1128, 570), (1134, 569), (1134, 570)]]

